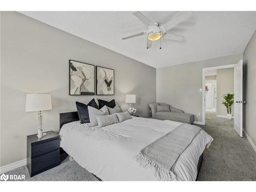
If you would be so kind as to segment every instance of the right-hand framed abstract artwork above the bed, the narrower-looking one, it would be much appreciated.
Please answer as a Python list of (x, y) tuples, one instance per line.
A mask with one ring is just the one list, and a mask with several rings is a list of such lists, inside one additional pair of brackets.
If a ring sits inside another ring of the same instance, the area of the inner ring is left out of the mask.
[(114, 70), (96, 66), (96, 95), (114, 95)]

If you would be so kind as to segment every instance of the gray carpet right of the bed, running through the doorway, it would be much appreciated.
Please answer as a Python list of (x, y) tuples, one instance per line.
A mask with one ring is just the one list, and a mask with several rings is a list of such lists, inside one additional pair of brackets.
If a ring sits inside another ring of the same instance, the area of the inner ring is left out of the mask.
[(207, 112), (201, 126), (214, 141), (204, 152), (199, 181), (256, 181), (256, 153), (246, 137), (239, 137), (233, 120)]

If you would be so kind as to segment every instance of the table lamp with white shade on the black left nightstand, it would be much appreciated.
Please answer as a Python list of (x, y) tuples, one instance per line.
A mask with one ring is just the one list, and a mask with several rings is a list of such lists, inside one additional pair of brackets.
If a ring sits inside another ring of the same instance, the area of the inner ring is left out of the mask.
[(37, 137), (41, 138), (46, 133), (42, 132), (42, 115), (41, 111), (52, 109), (51, 94), (27, 94), (26, 97), (26, 112), (38, 111), (38, 134)]

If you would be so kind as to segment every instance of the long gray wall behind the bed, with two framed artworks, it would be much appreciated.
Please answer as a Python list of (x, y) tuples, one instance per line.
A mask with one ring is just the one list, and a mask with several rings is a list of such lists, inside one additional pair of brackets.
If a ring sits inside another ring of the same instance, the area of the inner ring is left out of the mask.
[[(115, 70), (114, 96), (69, 96), (69, 59)], [(59, 130), (59, 113), (75, 101), (137, 95), (137, 113), (148, 117), (156, 102), (156, 69), (17, 12), (1, 12), (1, 166), (26, 158), (26, 136), (37, 132), (37, 113), (25, 112), (27, 93), (52, 94), (43, 111), (44, 131)]]

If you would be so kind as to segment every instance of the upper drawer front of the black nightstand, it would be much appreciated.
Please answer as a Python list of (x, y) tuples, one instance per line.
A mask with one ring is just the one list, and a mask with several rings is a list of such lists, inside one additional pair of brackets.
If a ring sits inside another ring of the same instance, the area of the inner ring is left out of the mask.
[(59, 148), (59, 139), (31, 146), (31, 157), (43, 155)]

